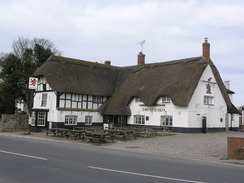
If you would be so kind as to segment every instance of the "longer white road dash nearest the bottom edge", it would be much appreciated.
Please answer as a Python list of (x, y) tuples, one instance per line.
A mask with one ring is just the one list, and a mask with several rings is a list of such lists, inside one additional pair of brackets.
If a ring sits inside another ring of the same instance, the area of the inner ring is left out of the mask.
[(199, 181), (194, 181), (194, 180), (177, 179), (177, 178), (173, 178), (173, 177), (162, 177), (162, 176), (157, 176), (157, 175), (149, 175), (149, 174), (143, 174), (143, 173), (127, 172), (127, 171), (113, 170), (113, 169), (100, 168), (100, 167), (94, 167), (94, 166), (88, 166), (88, 168), (102, 170), (102, 171), (109, 171), (109, 172), (116, 172), (116, 173), (123, 173), (123, 174), (137, 175), (137, 176), (144, 176), (144, 177), (152, 177), (152, 178), (157, 178), (157, 179), (174, 180), (174, 181), (179, 181), (179, 182), (205, 183), (205, 182), (199, 182)]

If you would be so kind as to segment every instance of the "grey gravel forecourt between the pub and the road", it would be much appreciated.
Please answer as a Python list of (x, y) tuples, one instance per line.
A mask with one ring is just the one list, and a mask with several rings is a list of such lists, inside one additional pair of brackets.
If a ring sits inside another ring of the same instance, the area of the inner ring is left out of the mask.
[[(6, 134), (6, 133), (3, 133)], [(8, 135), (19, 135), (20, 133), (7, 133)], [(21, 135), (26, 138), (44, 138), (51, 140), (62, 140), (74, 143), (97, 145), (82, 140), (65, 139), (46, 136), (45, 133), (32, 133)], [(106, 149), (117, 149), (137, 153), (146, 153), (159, 156), (170, 156), (183, 159), (194, 159), (211, 162), (227, 162), (244, 165), (244, 160), (227, 160), (227, 137), (243, 137), (244, 132), (218, 132), (207, 134), (171, 134), (151, 138), (138, 138), (136, 140), (120, 141), (98, 145)]]

